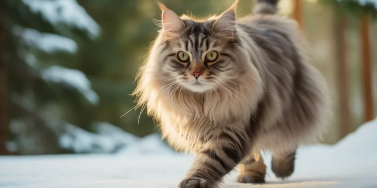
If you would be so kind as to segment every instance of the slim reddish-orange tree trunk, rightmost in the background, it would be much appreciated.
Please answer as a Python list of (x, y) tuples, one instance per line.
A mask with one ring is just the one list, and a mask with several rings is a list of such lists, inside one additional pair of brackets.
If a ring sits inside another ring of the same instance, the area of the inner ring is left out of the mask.
[(370, 27), (369, 19), (365, 16), (361, 20), (361, 54), (362, 54), (362, 82), (364, 93), (364, 120), (374, 119), (373, 96), (372, 96), (372, 60), (370, 44)]

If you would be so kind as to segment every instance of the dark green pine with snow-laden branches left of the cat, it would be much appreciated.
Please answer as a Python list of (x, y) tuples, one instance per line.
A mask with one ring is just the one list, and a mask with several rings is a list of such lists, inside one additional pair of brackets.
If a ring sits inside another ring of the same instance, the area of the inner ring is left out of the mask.
[[(76, 61), (79, 42), (96, 39), (101, 28), (76, 0), (1, 3), (9, 118), (0, 126), (9, 124), (8, 150), (19, 154), (62, 152), (58, 137), (66, 122), (51, 114), (64, 108), (55, 104), (90, 106), (99, 102), (85, 74), (62, 65)], [(6, 103), (0, 97), (1, 103)]]

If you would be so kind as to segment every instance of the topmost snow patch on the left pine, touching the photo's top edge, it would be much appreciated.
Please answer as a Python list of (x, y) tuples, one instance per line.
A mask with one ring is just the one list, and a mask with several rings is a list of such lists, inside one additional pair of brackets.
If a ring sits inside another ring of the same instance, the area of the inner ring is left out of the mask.
[(23, 0), (31, 11), (40, 13), (56, 28), (65, 24), (86, 31), (91, 38), (99, 36), (100, 26), (76, 0)]

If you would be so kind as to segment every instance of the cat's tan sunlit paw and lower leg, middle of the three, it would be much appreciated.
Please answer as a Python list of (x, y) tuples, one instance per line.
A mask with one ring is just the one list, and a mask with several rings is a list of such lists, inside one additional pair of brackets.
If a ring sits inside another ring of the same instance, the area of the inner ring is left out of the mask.
[(264, 183), (266, 176), (266, 164), (260, 152), (246, 157), (240, 163), (240, 175), (237, 178), (239, 183)]

